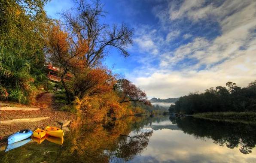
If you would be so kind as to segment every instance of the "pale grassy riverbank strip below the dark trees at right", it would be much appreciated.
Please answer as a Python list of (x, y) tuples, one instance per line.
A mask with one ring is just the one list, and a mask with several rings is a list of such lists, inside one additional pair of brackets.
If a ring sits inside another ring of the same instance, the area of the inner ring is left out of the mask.
[(205, 112), (196, 113), (193, 117), (199, 118), (250, 118), (256, 119), (256, 112)]

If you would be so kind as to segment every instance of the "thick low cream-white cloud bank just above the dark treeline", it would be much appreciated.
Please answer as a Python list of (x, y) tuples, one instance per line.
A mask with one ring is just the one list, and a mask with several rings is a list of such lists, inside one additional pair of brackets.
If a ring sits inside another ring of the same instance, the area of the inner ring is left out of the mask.
[(229, 81), (245, 87), (255, 80), (255, 54), (256, 50), (246, 51), (243, 56), (234, 60), (226, 60), (218, 66), (199, 72), (193, 69), (169, 70), (168, 72), (155, 69), (152, 75), (136, 78), (134, 82), (145, 90), (149, 97), (164, 99), (180, 97), (194, 91), (203, 92), (207, 88), (219, 85), (225, 86)]

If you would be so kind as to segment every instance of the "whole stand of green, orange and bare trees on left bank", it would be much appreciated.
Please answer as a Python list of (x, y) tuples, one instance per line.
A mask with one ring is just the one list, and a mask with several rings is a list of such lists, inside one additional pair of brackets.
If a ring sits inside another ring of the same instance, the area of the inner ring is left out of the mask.
[[(100, 0), (75, 0), (73, 8), (58, 13), (60, 20), (46, 14), (47, 2), (0, 1), (0, 100), (29, 105), (42, 90), (61, 85), (64, 110), (81, 111), (91, 120), (148, 113), (146, 93), (103, 62), (111, 49), (130, 56), (133, 29), (105, 24)], [(60, 84), (49, 81), (49, 63), (60, 69)]]

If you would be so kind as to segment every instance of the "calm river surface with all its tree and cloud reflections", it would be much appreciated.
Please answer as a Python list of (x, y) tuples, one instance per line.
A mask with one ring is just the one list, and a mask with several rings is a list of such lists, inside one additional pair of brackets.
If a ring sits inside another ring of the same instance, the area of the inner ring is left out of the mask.
[[(64, 142), (30, 140), (1, 163), (256, 163), (256, 123), (192, 117), (127, 117), (70, 129)], [(1, 148), (3, 150), (3, 147)]]

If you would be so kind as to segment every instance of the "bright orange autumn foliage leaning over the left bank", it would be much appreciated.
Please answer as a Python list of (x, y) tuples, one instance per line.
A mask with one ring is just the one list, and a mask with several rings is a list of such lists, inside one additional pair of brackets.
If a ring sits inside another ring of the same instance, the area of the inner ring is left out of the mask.
[[(67, 33), (60, 24), (55, 24), (49, 31), (48, 45), (49, 58), (54, 65), (60, 66), (62, 77), (68, 72), (73, 73), (73, 82), (65, 84), (61, 80), (70, 100), (70, 92), (75, 97), (74, 104), (77, 110), (88, 119), (88, 122), (103, 121), (108, 115), (110, 118), (120, 118), (123, 115), (134, 115), (143, 112), (134, 109), (131, 100), (146, 103), (146, 94), (131, 82), (123, 84), (125, 97), (122, 103), (119, 95), (113, 91), (116, 84), (116, 75), (107, 66), (88, 67), (86, 53), (89, 41), (83, 39), (79, 33)], [(77, 39), (79, 38), (79, 39)], [(126, 97), (127, 95), (127, 97)], [(129, 95), (129, 97), (128, 97)]]

